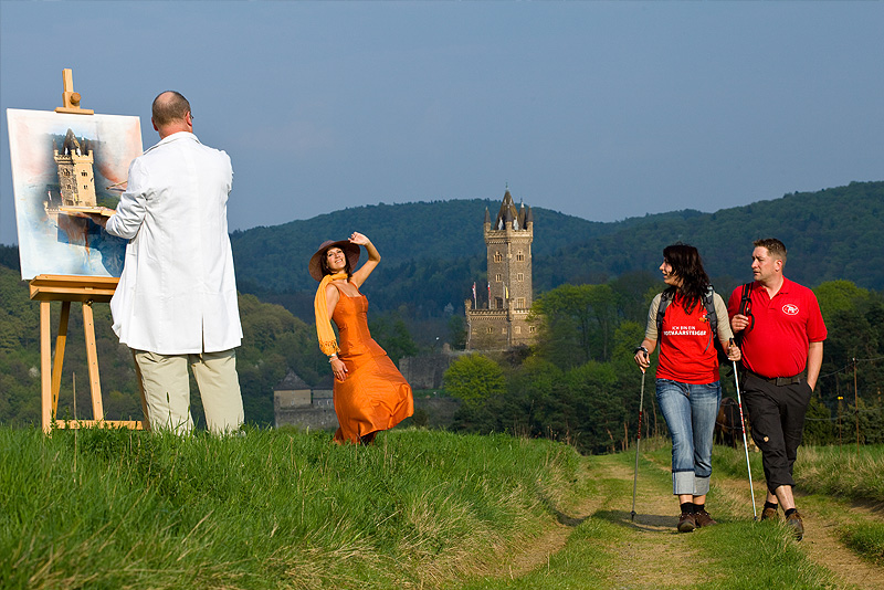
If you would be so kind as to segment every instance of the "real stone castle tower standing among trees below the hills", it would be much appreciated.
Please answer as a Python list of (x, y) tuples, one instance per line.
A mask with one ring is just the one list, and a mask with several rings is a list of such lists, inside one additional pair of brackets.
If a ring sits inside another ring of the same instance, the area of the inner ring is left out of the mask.
[(535, 341), (535, 326), (527, 322), (533, 296), (532, 242), (534, 214), (524, 203), (517, 209), (506, 190), (492, 223), (485, 209), (488, 301), (485, 307), (466, 299), (466, 349), (505, 350)]

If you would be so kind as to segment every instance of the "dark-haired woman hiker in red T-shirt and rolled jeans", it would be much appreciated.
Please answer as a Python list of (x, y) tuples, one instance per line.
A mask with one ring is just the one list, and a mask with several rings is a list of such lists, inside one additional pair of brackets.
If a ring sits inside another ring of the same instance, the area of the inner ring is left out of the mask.
[(713, 430), (722, 401), (714, 338), (728, 359), (739, 360), (740, 352), (732, 341), (727, 307), (712, 289), (697, 249), (682, 243), (666, 246), (660, 271), (669, 287), (651, 302), (635, 364), (644, 372), (660, 341), (656, 400), (672, 435), (672, 486), (682, 510), (677, 528), (690, 533), (716, 524), (706, 512)]

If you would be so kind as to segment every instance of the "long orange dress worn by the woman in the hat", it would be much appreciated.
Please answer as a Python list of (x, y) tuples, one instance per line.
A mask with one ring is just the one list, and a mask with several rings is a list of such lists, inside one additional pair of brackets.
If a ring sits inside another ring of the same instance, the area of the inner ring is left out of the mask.
[(332, 318), (338, 327), (338, 358), (347, 376), (344, 381), (335, 379), (335, 413), (340, 424), (335, 441), (358, 443), (360, 436), (391, 429), (414, 413), (414, 400), (411, 386), (368, 331), (366, 296), (348, 297), (340, 288), (338, 293)]

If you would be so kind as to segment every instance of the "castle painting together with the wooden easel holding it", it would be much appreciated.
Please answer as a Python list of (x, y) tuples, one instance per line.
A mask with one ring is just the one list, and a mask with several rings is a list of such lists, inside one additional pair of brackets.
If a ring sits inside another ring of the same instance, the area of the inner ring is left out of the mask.
[[(123, 272), (126, 241), (88, 218), (91, 212), (113, 213), (119, 202), (129, 162), (141, 155), (140, 120), (81, 108), (71, 71), (62, 76), (64, 106), (54, 113), (7, 109), (21, 276), (31, 282), (31, 298), (40, 302), (42, 426), (143, 428), (141, 421), (104, 420), (92, 305), (110, 301)], [(54, 362), (52, 302), (62, 303)], [(72, 302), (83, 306), (91, 421), (55, 417)]]

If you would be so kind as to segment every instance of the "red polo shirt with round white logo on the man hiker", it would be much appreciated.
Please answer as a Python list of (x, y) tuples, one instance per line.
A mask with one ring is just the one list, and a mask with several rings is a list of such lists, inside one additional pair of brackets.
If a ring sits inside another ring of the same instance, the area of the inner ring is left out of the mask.
[[(743, 286), (730, 294), (727, 314), (739, 313)], [(810, 343), (825, 340), (825, 324), (817, 296), (808, 287), (782, 278), (771, 299), (757, 281), (750, 295), (755, 324), (743, 330), (743, 365), (761, 377), (792, 377), (804, 370)]]

